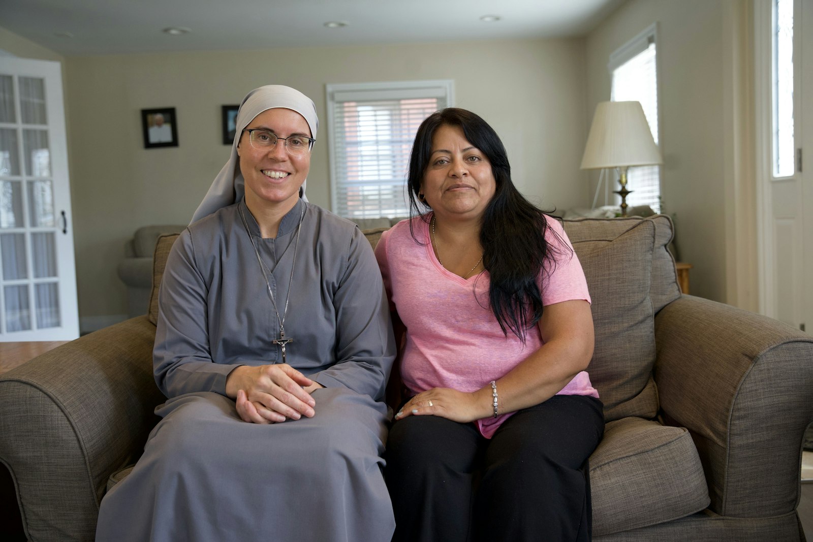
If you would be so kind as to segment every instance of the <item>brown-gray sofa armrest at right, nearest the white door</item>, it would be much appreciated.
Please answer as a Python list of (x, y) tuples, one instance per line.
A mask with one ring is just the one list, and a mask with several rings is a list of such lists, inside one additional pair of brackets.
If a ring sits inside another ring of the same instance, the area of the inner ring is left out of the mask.
[(683, 296), (656, 315), (655, 344), (664, 418), (691, 432), (711, 510), (751, 518), (792, 512), (813, 418), (813, 337)]

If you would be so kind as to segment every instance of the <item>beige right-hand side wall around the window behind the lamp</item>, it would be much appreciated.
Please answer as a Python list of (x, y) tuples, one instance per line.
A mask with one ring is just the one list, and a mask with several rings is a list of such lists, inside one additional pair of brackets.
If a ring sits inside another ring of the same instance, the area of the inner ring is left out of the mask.
[(631, 0), (589, 34), (585, 58), (587, 118), (592, 119), (596, 104), (610, 99), (610, 54), (650, 24), (658, 24), (665, 210), (675, 215), (680, 258), (694, 266), (691, 293), (733, 302), (726, 291), (730, 247), (724, 186), (724, 152), (731, 135), (724, 130), (730, 98), (724, 94), (732, 90), (724, 85), (728, 1)]

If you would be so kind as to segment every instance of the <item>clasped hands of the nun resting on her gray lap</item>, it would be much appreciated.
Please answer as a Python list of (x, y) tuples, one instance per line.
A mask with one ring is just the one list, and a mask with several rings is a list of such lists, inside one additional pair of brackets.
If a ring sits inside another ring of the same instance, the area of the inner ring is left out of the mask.
[(236, 399), (240, 418), (251, 423), (313, 418), (316, 401), (311, 392), (316, 388), (324, 386), (287, 363), (239, 366), (226, 379), (226, 395)]

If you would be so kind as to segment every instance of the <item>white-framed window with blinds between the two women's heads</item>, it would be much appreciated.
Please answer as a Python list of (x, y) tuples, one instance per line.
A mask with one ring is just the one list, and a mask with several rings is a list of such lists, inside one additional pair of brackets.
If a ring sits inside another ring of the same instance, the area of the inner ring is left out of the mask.
[(420, 123), (451, 106), (452, 81), (328, 85), (333, 212), (350, 219), (409, 214), (406, 172)]

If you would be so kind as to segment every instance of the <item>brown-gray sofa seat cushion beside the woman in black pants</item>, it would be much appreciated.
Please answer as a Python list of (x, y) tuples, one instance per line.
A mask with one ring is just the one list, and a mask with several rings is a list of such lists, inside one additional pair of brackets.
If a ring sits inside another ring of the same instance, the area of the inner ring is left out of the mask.
[(689, 431), (641, 418), (606, 424), (590, 456), (593, 535), (683, 518), (709, 504)]

